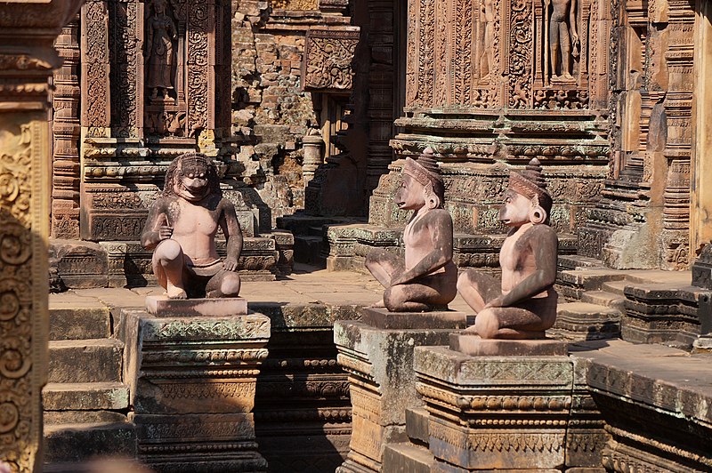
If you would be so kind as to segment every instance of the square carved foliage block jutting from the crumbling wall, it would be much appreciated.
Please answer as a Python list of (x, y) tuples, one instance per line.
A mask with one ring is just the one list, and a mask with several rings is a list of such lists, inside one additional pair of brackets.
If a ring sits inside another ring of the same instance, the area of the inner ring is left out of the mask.
[(350, 91), (359, 35), (358, 30), (309, 29), (304, 46), (304, 90)]

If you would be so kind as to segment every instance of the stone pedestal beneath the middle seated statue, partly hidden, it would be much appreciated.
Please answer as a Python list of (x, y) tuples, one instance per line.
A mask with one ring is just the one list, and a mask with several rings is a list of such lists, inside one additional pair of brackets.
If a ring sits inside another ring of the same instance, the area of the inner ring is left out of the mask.
[(465, 323), (465, 314), (457, 312), (389, 314), (384, 309), (364, 309), (362, 317), (398, 321), (396, 325), (401, 326), (409, 320), (423, 325), (427, 319), (439, 321), (439, 328), (381, 329), (355, 321), (334, 324), (337, 360), (349, 373), (352, 400), (352, 439), (348, 457), (337, 469), (341, 473), (382, 470), (384, 445), (407, 438), (406, 409), (423, 404), (416, 394), (413, 349), (445, 345), (449, 333)]

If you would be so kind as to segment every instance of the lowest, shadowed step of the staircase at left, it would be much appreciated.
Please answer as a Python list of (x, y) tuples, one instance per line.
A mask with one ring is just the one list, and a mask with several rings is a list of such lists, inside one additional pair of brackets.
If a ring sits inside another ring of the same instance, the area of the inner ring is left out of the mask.
[(70, 461), (135, 456), (136, 432), (130, 422), (44, 426), (44, 461), (49, 463), (44, 471), (57, 471), (62, 463)]

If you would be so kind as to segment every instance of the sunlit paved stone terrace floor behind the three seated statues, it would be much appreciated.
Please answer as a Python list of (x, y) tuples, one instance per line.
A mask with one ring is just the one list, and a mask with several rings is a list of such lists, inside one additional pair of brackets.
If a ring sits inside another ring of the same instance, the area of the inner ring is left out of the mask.
[[(134, 308), (144, 307), (145, 297), (161, 294), (158, 286), (126, 288), (73, 289), (50, 294), (51, 309)], [(328, 304), (368, 306), (383, 296), (383, 287), (370, 275), (355, 272), (329, 272), (312, 266), (296, 264), (289, 277), (277, 281), (244, 282), (240, 296), (248, 303), (278, 302), (281, 304)], [(472, 312), (457, 295), (450, 309)]]

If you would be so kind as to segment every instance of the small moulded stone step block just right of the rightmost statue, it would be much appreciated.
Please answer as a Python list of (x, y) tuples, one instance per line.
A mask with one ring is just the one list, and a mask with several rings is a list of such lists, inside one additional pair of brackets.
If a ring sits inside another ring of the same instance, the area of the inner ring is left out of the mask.
[(548, 331), (556, 338), (587, 341), (620, 336), (621, 313), (618, 309), (587, 302), (568, 302), (559, 304), (556, 312), (556, 323)]

